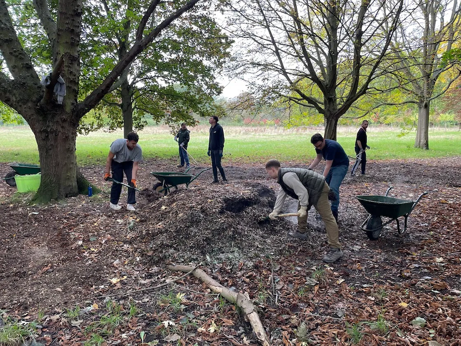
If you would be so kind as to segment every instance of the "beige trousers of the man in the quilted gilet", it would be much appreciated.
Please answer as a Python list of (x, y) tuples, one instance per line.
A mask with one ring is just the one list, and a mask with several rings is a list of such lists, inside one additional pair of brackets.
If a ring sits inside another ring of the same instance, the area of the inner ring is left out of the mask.
[[(330, 190), (328, 184), (325, 183), (323, 186), (322, 193), (320, 194), (319, 201), (314, 208), (319, 212), (322, 217), (323, 222), (325, 222), (325, 228), (328, 237), (328, 245), (330, 248), (341, 249), (341, 244), (339, 242), (339, 229), (338, 223), (334, 219), (333, 214), (331, 213), (330, 203), (328, 202), (328, 191)], [(298, 203), (298, 210), (300, 204)], [(306, 217), (298, 217), (298, 228), (301, 233), (307, 231), (307, 215)]]

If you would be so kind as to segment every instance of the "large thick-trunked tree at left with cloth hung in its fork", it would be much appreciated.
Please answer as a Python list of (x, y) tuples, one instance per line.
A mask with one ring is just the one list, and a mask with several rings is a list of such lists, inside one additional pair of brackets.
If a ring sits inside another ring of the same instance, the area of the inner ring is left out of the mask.
[[(43, 87), (25, 43), (18, 39), (7, 3), (0, 0), (0, 52), (7, 67), (6, 71), (2, 65), (0, 71), (0, 100), (26, 119), (37, 141), (41, 184), (33, 201), (47, 202), (75, 196), (85, 187), (86, 180), (78, 174), (75, 155), (80, 119), (96, 107), (123, 71), (165, 28), (198, 2), (153, 0), (141, 6), (143, 15), (131, 49), (102, 83), (79, 101), (82, 1), (60, 0), (53, 12), (46, 0), (34, 1), (52, 52), (50, 84)], [(159, 7), (169, 9), (167, 15), (158, 15)], [(57, 103), (53, 93), (59, 76), (66, 82), (62, 104)]]

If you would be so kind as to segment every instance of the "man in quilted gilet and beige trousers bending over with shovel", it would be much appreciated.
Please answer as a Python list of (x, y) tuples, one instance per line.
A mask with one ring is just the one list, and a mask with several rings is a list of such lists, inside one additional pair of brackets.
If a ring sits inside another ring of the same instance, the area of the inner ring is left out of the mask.
[(325, 222), (328, 245), (330, 247), (327, 254), (323, 257), (326, 263), (337, 261), (343, 256), (341, 244), (339, 243), (338, 224), (331, 212), (328, 202), (330, 188), (325, 181), (325, 177), (309, 169), (303, 168), (281, 168), (280, 162), (271, 159), (266, 162), (266, 172), (277, 179), (281, 189), (277, 195), (274, 211), (269, 214), (269, 218), (276, 219), (285, 202), (286, 196), (299, 200), (298, 203), (298, 231), (289, 232), (292, 238), (305, 239), (307, 235), (307, 210), (314, 206)]

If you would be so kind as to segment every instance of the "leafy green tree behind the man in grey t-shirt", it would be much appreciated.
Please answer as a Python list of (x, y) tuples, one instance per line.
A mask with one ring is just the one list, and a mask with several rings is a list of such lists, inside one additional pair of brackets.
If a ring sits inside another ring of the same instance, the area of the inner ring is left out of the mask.
[[(123, 58), (141, 20), (137, 14), (140, 4), (135, 1), (125, 6), (101, 2), (103, 14), (98, 3), (86, 6), (83, 27), (89, 44), (82, 52), (86, 71), (83, 91), (100, 82), (107, 65)], [(194, 115), (211, 115), (215, 110), (213, 96), (221, 91), (215, 75), (229, 55), (230, 44), (213, 15), (207, 11), (184, 13), (125, 69), (112, 86), (114, 91), (102, 99), (104, 112), (92, 114), (92, 119), (97, 114), (109, 114), (109, 127), (123, 127), (126, 135), (133, 126), (141, 129), (145, 116), (173, 126), (182, 121), (193, 124)], [(100, 63), (102, 59), (106, 64)], [(169, 114), (166, 118), (165, 112)]]

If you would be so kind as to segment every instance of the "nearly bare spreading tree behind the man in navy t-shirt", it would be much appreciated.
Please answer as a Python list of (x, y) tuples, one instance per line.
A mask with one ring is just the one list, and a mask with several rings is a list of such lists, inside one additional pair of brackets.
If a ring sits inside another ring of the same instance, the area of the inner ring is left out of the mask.
[(379, 75), (403, 0), (238, 0), (231, 6), (227, 28), (241, 44), (234, 70), (263, 97), (315, 109), (324, 116), (325, 137), (336, 139), (339, 118)]

